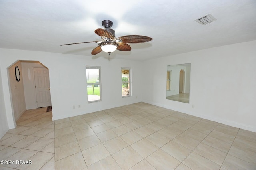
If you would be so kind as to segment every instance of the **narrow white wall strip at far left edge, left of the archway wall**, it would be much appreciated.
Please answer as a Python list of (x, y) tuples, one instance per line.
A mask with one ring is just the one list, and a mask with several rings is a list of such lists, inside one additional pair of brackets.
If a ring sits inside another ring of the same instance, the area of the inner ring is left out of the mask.
[(7, 119), (6, 119), (6, 110), (4, 102), (4, 93), (2, 87), (2, 77), (1, 77), (1, 67), (0, 67), (0, 139), (4, 134), (9, 130)]

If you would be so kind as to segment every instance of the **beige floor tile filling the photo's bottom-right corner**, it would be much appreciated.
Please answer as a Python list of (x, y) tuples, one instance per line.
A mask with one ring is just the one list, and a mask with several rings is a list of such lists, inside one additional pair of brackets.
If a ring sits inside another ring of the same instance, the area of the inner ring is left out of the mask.
[(227, 155), (222, 166), (228, 170), (255, 170), (255, 163), (248, 163), (234, 156)]

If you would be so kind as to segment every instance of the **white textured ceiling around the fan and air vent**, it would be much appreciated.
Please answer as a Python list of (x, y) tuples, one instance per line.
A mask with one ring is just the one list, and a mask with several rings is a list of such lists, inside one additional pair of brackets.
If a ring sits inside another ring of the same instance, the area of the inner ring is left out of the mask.
[[(200, 25), (212, 14), (217, 20)], [(146, 60), (256, 40), (256, 0), (0, 0), (0, 48), (47, 51), (91, 58), (94, 33), (111, 20), (116, 37), (143, 35), (112, 58)], [(93, 56), (108, 57), (103, 51)]]

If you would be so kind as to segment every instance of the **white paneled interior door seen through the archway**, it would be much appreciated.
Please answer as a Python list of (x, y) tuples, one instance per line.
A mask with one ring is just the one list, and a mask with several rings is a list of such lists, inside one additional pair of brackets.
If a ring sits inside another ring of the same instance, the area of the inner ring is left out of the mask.
[(34, 68), (37, 107), (51, 106), (49, 71), (46, 68)]

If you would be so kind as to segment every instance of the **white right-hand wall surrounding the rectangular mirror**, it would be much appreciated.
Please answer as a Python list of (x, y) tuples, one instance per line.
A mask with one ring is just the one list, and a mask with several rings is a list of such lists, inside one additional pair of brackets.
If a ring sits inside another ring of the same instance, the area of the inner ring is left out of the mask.
[[(190, 102), (167, 100), (166, 66), (184, 63), (191, 63)], [(152, 59), (144, 68), (144, 102), (256, 132), (256, 41)]]

